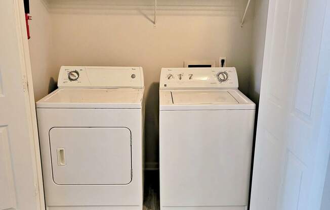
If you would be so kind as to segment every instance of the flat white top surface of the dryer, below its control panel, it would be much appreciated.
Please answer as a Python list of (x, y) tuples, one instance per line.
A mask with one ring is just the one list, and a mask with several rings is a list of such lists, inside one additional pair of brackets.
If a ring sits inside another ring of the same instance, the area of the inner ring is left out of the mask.
[(36, 102), (36, 108), (141, 109), (143, 89), (59, 88)]

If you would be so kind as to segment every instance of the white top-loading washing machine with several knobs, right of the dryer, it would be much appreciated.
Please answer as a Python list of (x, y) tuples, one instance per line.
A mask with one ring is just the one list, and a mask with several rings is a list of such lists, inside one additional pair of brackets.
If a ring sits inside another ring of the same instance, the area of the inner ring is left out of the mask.
[(162, 68), (161, 210), (245, 210), (255, 103), (235, 68)]

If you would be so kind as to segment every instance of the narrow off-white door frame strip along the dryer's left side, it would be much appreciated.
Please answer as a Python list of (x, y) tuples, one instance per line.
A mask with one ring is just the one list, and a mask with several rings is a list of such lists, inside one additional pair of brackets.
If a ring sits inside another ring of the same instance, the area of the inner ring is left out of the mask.
[(36, 122), (36, 112), (35, 112), (35, 101), (33, 93), (33, 82), (32, 82), (32, 71), (30, 62), (30, 53), (27, 40), (27, 31), (25, 23), (25, 11), (23, 1), (14, 0), (15, 7), (15, 25), (18, 35), (18, 49), (20, 50), (20, 63), (22, 64), (22, 83), (23, 89), (26, 94), (25, 96), (25, 107), (27, 108), (27, 119), (29, 119), (28, 129), (29, 129), (29, 139), (31, 145), (32, 160), (34, 161), (34, 186), (37, 203), (39, 203), (38, 210), (45, 209), (45, 198), (44, 198), (44, 184), (42, 176), (42, 166), (40, 158), (39, 149), (39, 137)]

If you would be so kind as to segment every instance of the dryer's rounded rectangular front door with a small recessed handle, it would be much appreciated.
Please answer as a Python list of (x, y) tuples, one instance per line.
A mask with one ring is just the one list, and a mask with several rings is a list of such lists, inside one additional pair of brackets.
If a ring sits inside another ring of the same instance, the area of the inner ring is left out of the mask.
[(131, 182), (131, 131), (128, 128), (55, 127), (49, 131), (49, 138), (56, 184)]

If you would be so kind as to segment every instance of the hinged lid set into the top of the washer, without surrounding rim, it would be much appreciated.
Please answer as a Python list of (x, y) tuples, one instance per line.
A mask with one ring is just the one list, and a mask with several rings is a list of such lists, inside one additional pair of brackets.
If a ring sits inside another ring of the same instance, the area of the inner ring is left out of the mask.
[(172, 91), (173, 104), (238, 104), (238, 101), (223, 90), (176, 90)]

